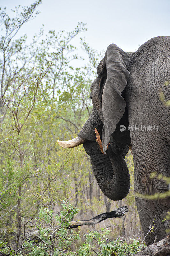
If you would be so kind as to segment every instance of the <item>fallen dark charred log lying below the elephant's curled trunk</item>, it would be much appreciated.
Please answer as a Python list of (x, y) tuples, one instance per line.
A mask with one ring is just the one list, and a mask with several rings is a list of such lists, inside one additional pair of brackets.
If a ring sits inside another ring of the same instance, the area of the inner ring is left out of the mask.
[(114, 211), (99, 214), (90, 220), (71, 221), (69, 222), (69, 226), (67, 227), (67, 229), (77, 228), (78, 226), (84, 225), (95, 225), (108, 218), (121, 218), (124, 216), (125, 212), (128, 212), (128, 207), (122, 206)]

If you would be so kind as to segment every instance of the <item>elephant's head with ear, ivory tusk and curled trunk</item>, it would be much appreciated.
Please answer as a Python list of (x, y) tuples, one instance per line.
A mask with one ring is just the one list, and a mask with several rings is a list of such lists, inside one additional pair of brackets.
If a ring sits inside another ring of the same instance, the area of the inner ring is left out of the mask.
[[(64, 148), (83, 144), (102, 192), (111, 200), (121, 200), (130, 188), (130, 175), (124, 161), (131, 142), (125, 87), (129, 77), (128, 55), (115, 44), (108, 46), (97, 67), (98, 77), (91, 85), (92, 114), (78, 137), (58, 141)], [(125, 127), (123, 132), (120, 126)], [(102, 140), (103, 153), (96, 142), (95, 128)]]

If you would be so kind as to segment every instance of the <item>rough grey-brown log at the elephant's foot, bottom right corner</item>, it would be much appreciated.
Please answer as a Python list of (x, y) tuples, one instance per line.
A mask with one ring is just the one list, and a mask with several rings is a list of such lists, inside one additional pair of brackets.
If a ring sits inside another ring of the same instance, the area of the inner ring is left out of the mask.
[(168, 256), (170, 255), (170, 236), (143, 248), (136, 256)]

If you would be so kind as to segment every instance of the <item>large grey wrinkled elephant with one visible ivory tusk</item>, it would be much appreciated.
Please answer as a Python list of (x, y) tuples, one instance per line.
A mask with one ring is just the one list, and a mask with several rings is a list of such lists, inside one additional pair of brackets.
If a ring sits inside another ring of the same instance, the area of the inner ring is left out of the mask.
[[(90, 87), (91, 116), (78, 137), (58, 141), (64, 148), (83, 144), (97, 183), (111, 200), (121, 200), (129, 192), (124, 158), (131, 143), (135, 201), (147, 245), (167, 236), (169, 227), (162, 220), (170, 210), (170, 196), (145, 196), (168, 191), (168, 184), (158, 175), (169, 177), (170, 173), (169, 67), (170, 37), (154, 37), (136, 52), (110, 44)], [(153, 232), (148, 233), (152, 226)]]

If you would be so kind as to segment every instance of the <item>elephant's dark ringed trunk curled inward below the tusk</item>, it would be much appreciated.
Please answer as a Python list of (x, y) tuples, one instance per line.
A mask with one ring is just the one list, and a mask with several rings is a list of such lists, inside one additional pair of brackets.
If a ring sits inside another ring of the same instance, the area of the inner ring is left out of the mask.
[[(130, 188), (130, 175), (123, 156), (116, 156), (110, 146), (107, 155), (103, 155), (93, 143), (93, 150), (89, 151), (89, 143), (83, 144), (90, 155), (92, 170), (101, 191), (111, 200), (121, 200), (127, 196)], [(92, 151), (95, 153), (93, 154)], [(90, 147), (92, 149), (92, 147)]]

